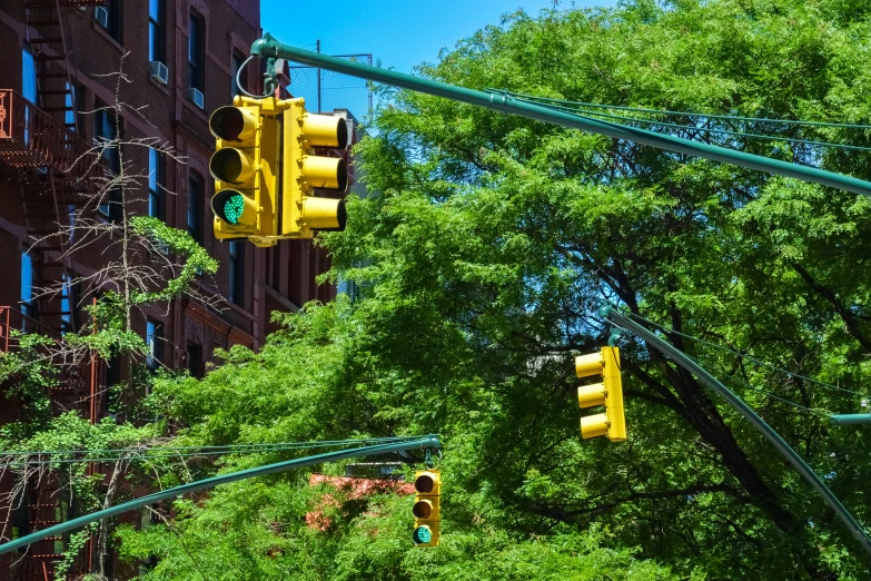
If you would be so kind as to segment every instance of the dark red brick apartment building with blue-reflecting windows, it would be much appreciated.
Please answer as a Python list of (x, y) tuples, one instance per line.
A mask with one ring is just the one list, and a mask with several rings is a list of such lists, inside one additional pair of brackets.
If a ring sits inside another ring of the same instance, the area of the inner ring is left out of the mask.
[[(65, 280), (98, 272), (107, 259), (106, 248), (95, 244), (69, 255), (70, 238), (58, 233), (82, 208), (97, 223), (119, 219), (111, 195), (93, 203), (93, 177), (101, 168), (117, 173), (121, 163), (150, 176), (141, 195), (127, 203), (127, 211), (187, 229), (220, 263), (214, 277), (198, 282), (198, 292), (209, 301), (179, 297), (145, 307), (135, 317), (133, 327), (149, 342), (155, 361), (201, 376), (216, 348), (261, 345), (271, 331), (270, 312), (335, 297), (334, 287), (315, 283), (329, 265), (309, 240), (256, 248), (247, 242), (221, 243), (211, 234), (214, 183), (208, 161), (215, 141), (209, 112), (231, 102), (238, 90), (236, 72), (260, 33), (258, 0), (0, 4), (0, 52), (7, 55), (0, 61), (0, 259), (7, 272), (0, 277), (0, 305), (6, 305), (0, 307), (0, 348), (11, 348), (10, 329), (59, 334), (86, 321), (82, 304), (105, 288)], [(129, 83), (118, 82), (113, 73), (119, 70)], [(259, 93), (263, 79), (256, 71), (247, 67), (243, 82)], [(116, 96), (128, 105), (119, 119), (103, 109), (116, 102)], [(135, 112), (143, 107), (142, 115)], [(349, 135), (356, 137), (353, 118), (336, 114), (348, 119)], [(154, 138), (186, 161), (162, 155), (157, 147), (123, 145), (105, 149), (98, 167), (77, 163), (99, 138)], [(350, 166), (349, 177), (353, 184)], [(61, 290), (34, 294), (33, 288), (50, 284)], [(106, 397), (99, 394), (125, 370), (117, 362), (86, 363), (65, 376), (71, 394), (66, 408), (97, 420), (106, 414)], [(57, 397), (63, 400), (61, 394)], [(72, 402), (79, 402), (78, 407)], [(0, 410), (0, 423), (17, 418), (14, 405)], [(4, 525), (4, 539), (62, 518), (51, 490), (30, 494), (28, 510)], [(62, 548), (59, 542), (36, 543), (16, 565), (18, 577), (10, 579), (50, 578)], [(0, 562), (0, 580), (9, 571)]]

